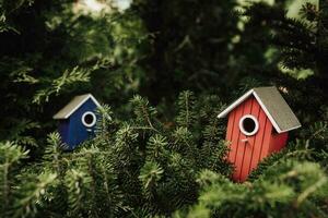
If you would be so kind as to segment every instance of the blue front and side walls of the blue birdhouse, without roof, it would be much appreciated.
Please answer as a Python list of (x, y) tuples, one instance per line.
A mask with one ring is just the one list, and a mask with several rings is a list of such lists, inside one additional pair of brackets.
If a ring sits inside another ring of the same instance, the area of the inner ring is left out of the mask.
[(69, 147), (69, 150), (74, 149), (79, 144), (85, 140), (94, 137), (95, 125), (86, 128), (82, 123), (82, 116), (86, 111), (95, 113), (97, 106), (92, 99), (86, 100), (78, 110), (75, 110), (67, 120), (62, 120), (59, 126), (59, 133), (62, 142)]

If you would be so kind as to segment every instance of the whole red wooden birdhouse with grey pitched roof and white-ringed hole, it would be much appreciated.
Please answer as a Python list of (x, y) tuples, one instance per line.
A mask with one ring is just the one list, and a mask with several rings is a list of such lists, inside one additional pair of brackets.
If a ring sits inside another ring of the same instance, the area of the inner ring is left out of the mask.
[(245, 181), (265, 157), (285, 146), (289, 131), (301, 128), (276, 87), (248, 90), (218, 118), (226, 116), (227, 160), (234, 165), (233, 180), (238, 182)]

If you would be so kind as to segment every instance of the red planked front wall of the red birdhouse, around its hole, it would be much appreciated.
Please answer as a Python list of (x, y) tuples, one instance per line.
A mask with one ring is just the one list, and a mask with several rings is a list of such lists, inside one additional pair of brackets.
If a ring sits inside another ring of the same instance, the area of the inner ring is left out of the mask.
[[(259, 129), (251, 136), (239, 130), (239, 120), (251, 114), (258, 120)], [(230, 142), (227, 159), (235, 167), (233, 180), (245, 181), (270, 150), (272, 124), (258, 101), (251, 96), (229, 114), (226, 141)]]

